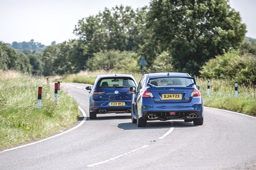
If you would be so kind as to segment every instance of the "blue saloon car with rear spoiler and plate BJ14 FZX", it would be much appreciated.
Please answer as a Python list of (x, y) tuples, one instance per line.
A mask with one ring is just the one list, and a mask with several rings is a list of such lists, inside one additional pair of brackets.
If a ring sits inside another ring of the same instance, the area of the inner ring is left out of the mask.
[(143, 75), (132, 98), (132, 123), (145, 127), (147, 121), (184, 120), (203, 125), (203, 100), (196, 80), (188, 73)]

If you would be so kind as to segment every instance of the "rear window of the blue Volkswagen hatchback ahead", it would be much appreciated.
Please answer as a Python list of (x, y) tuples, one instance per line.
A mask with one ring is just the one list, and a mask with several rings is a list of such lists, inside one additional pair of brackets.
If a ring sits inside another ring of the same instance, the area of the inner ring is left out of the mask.
[(102, 78), (97, 83), (97, 88), (116, 88), (136, 86), (131, 78)]

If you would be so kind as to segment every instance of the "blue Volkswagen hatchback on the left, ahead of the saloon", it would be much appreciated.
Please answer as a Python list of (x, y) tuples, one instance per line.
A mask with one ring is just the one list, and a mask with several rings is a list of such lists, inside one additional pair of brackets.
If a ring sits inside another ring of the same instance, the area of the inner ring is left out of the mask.
[(97, 114), (131, 113), (131, 99), (137, 82), (129, 74), (98, 75), (90, 91), (90, 119), (96, 119)]

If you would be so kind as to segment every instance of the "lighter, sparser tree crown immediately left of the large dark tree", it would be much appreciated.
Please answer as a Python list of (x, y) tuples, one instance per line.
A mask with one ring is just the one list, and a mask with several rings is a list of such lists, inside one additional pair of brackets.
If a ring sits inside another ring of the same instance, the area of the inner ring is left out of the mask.
[(74, 33), (87, 45), (89, 53), (101, 50), (133, 50), (145, 41), (143, 31), (147, 7), (133, 10), (130, 6), (105, 8), (95, 16), (79, 20)]

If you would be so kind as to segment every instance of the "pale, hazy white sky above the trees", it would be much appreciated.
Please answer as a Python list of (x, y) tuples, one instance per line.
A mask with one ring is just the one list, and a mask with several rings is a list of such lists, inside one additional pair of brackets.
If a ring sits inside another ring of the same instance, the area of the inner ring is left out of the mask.
[[(149, 5), (150, 0), (0, 0), (0, 41), (12, 43), (34, 39), (43, 45), (77, 38), (79, 20), (102, 12), (105, 7)], [(256, 1), (230, 0), (247, 26), (246, 36), (256, 38)]]

